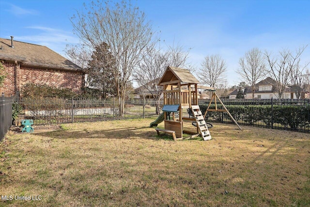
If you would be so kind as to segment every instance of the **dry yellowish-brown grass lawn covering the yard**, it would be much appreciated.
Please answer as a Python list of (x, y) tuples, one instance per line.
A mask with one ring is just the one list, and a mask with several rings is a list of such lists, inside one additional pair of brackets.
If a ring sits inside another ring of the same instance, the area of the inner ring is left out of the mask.
[(152, 121), (9, 132), (0, 194), (42, 200), (0, 206), (310, 205), (309, 134), (215, 124), (211, 141), (174, 142), (158, 137)]

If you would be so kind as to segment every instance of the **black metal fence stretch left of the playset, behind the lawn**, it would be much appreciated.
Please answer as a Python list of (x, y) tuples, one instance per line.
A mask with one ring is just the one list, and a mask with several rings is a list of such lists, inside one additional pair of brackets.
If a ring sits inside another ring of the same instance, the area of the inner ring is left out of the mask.
[(158, 116), (156, 103), (151, 100), (128, 100), (125, 101), (122, 114), (117, 99), (23, 98), (20, 105), (24, 110), (20, 115), (24, 119), (33, 119), (34, 125), (138, 119)]

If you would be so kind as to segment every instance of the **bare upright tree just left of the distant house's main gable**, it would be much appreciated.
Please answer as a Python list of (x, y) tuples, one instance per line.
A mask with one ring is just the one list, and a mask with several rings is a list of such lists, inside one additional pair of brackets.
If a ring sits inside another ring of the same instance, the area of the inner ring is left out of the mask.
[(241, 76), (241, 79), (246, 81), (252, 90), (252, 98), (254, 99), (255, 85), (264, 76), (264, 57), (259, 48), (252, 48), (246, 52), (246, 54), (239, 59), (239, 68), (237, 73)]

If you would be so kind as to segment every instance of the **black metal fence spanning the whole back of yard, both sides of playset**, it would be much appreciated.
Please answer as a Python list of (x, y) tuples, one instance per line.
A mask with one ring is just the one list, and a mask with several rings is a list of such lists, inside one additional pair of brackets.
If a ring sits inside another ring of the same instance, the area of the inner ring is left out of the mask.
[[(222, 99), (226, 108), (240, 125), (294, 130), (310, 133), (310, 100), (291, 99)], [(63, 100), (58, 98), (20, 100), (24, 108), (22, 117), (33, 119), (34, 125), (61, 124), (85, 121), (103, 121), (115, 119), (137, 119), (157, 117), (156, 101), (128, 100), (125, 102), (124, 114), (119, 111), (117, 99), (109, 100)], [(199, 100), (204, 113), (209, 100)], [(159, 109), (163, 102), (159, 103)], [(214, 109), (212, 103), (210, 109)], [(217, 102), (217, 108), (222, 106)], [(184, 117), (190, 116), (183, 111)], [(208, 111), (206, 120), (233, 124), (226, 112)]]

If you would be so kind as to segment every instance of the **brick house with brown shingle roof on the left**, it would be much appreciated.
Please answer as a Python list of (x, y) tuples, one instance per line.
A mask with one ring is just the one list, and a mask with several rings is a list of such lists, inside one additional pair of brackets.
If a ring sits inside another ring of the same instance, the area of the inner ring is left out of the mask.
[(12, 96), (27, 83), (47, 84), (80, 92), (84, 87), (81, 67), (53, 50), (25, 42), (0, 38), (0, 63), (7, 72), (0, 93)]

